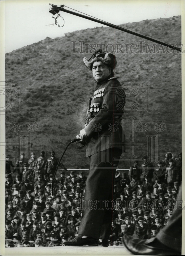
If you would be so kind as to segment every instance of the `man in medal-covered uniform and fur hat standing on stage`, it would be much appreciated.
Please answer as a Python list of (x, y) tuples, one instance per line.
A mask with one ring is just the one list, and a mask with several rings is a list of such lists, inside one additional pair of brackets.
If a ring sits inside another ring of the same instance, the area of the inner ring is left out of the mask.
[[(92, 59), (91, 59), (92, 58)], [(96, 81), (94, 93), (89, 101), (86, 126), (77, 135), (86, 145), (86, 156), (90, 157), (89, 174), (86, 180), (84, 207), (78, 236), (64, 242), (69, 246), (94, 244), (102, 239), (102, 246), (108, 246), (111, 231), (112, 210), (110, 205), (98, 210), (100, 200), (113, 200), (115, 171), (123, 152), (124, 141), (121, 120), (125, 104), (124, 89), (114, 77), (116, 58), (113, 54), (97, 51), (90, 60), (83, 59), (85, 66), (93, 73)], [(115, 115), (116, 114), (116, 115)], [(85, 200), (88, 200), (86, 207)], [(96, 209), (90, 209), (95, 200)]]

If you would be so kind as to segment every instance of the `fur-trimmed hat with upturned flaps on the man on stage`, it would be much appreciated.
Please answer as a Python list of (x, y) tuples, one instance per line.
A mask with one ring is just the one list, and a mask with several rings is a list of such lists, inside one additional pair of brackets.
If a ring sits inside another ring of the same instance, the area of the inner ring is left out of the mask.
[[(92, 58), (92, 60), (91, 60)], [(116, 67), (117, 64), (117, 60), (115, 55), (110, 54), (110, 53), (104, 53), (102, 52), (102, 50), (98, 50), (96, 51), (89, 60), (87, 60), (87, 58), (83, 58), (83, 62), (85, 64), (85, 66), (92, 71), (92, 66), (93, 63), (95, 61), (102, 61), (104, 64), (106, 64), (107, 66), (109, 66), (111, 68), (111, 70), (113, 70)], [(91, 60), (91, 61), (90, 61)]]

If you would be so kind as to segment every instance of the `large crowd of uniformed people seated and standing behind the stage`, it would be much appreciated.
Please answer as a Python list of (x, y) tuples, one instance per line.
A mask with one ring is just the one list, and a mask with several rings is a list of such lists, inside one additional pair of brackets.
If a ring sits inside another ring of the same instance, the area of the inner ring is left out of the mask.
[[(78, 234), (86, 176), (62, 170), (51, 182), (58, 159), (41, 151), (30, 159), (21, 154), (12, 168), (6, 158), (6, 247), (62, 246)], [(168, 152), (158, 166), (135, 161), (129, 172), (116, 170), (113, 219), (109, 245), (122, 245), (125, 233), (136, 238), (155, 237), (168, 224), (181, 184), (181, 153)], [(98, 245), (99, 241), (97, 241)]]

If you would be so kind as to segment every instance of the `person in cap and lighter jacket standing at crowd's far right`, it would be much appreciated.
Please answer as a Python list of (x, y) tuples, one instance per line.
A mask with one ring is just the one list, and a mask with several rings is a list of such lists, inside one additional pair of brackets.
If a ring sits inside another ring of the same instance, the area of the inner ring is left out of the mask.
[(173, 186), (173, 183), (177, 181), (177, 168), (173, 159), (169, 159), (169, 166), (166, 167), (165, 181), (168, 186)]

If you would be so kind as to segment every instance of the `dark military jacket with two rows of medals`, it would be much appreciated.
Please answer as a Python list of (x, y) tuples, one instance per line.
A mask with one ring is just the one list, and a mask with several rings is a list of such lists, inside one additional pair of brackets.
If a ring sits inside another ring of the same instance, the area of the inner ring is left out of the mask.
[(85, 132), (89, 142), (86, 143), (86, 156), (111, 147), (123, 150), (122, 146), (114, 143), (124, 140), (120, 124), (124, 104), (124, 89), (116, 78), (112, 77), (96, 84), (87, 111)]

